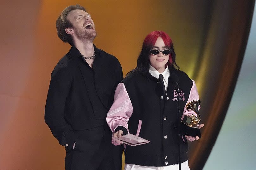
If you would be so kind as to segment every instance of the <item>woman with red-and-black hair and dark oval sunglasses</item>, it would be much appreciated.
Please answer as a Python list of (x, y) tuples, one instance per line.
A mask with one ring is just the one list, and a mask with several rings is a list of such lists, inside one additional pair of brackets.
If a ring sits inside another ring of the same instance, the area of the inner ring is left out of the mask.
[[(189, 170), (187, 140), (199, 137), (178, 137), (176, 127), (184, 115), (194, 113), (186, 104), (199, 97), (195, 81), (179, 70), (175, 58), (171, 38), (163, 31), (151, 32), (144, 39), (137, 67), (116, 88), (106, 118), (113, 137), (131, 133), (150, 141), (124, 144), (125, 170), (178, 169), (179, 162), (181, 169)], [(112, 139), (112, 144), (122, 143)]]

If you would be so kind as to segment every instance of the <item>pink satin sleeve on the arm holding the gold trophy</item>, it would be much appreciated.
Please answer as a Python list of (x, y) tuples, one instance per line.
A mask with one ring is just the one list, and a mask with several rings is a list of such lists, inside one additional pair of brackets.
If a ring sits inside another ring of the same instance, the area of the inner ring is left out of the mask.
[[(196, 88), (196, 85), (195, 85), (195, 81), (192, 80), (192, 87), (191, 87), (191, 90), (190, 90), (190, 93), (189, 93), (189, 99), (188, 99), (188, 102), (186, 103), (186, 105), (191, 102), (192, 100), (199, 100), (199, 95), (198, 95), (198, 92), (197, 92), (197, 88)], [(181, 120), (183, 120), (184, 118), (184, 115), (189, 115), (189, 116), (192, 116), (192, 114), (195, 114), (195, 112), (193, 112), (192, 110), (187, 110), (186, 109), (186, 105), (185, 107), (183, 108), (183, 115), (181, 117)], [(198, 110), (201, 108), (201, 106), (199, 105), (198, 106)], [(197, 125), (198, 126), (198, 125)], [(183, 138), (183, 137), (182, 137)], [(189, 140), (189, 141), (194, 141), (195, 139), (193, 140)], [(184, 139), (183, 139), (184, 141)]]

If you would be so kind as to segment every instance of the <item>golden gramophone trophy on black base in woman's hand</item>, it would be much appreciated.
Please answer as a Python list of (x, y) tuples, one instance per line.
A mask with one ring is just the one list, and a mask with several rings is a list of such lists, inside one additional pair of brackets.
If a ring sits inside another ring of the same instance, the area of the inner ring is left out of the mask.
[(186, 105), (186, 109), (191, 109), (195, 114), (192, 114), (192, 116), (184, 115), (183, 120), (181, 120), (181, 132), (183, 135), (201, 138), (200, 129), (197, 127), (198, 122), (201, 120), (198, 111), (200, 103), (200, 100), (192, 100)]

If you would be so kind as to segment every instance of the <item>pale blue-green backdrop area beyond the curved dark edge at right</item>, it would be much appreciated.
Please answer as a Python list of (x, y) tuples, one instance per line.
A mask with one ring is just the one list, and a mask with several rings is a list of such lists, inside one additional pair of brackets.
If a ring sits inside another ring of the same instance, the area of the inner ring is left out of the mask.
[(255, 44), (256, 6), (254, 6), (252, 26), (235, 90), (204, 170), (254, 170), (256, 167)]

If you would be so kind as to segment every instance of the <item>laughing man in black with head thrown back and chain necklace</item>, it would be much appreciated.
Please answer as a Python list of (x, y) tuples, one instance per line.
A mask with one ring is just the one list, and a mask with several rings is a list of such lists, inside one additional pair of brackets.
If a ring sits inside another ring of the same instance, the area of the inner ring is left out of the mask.
[(66, 148), (65, 167), (121, 169), (122, 148), (111, 144), (106, 115), (123, 79), (122, 67), (93, 44), (97, 33), (84, 7), (68, 6), (56, 28), (59, 38), (72, 47), (51, 74), (45, 122)]

